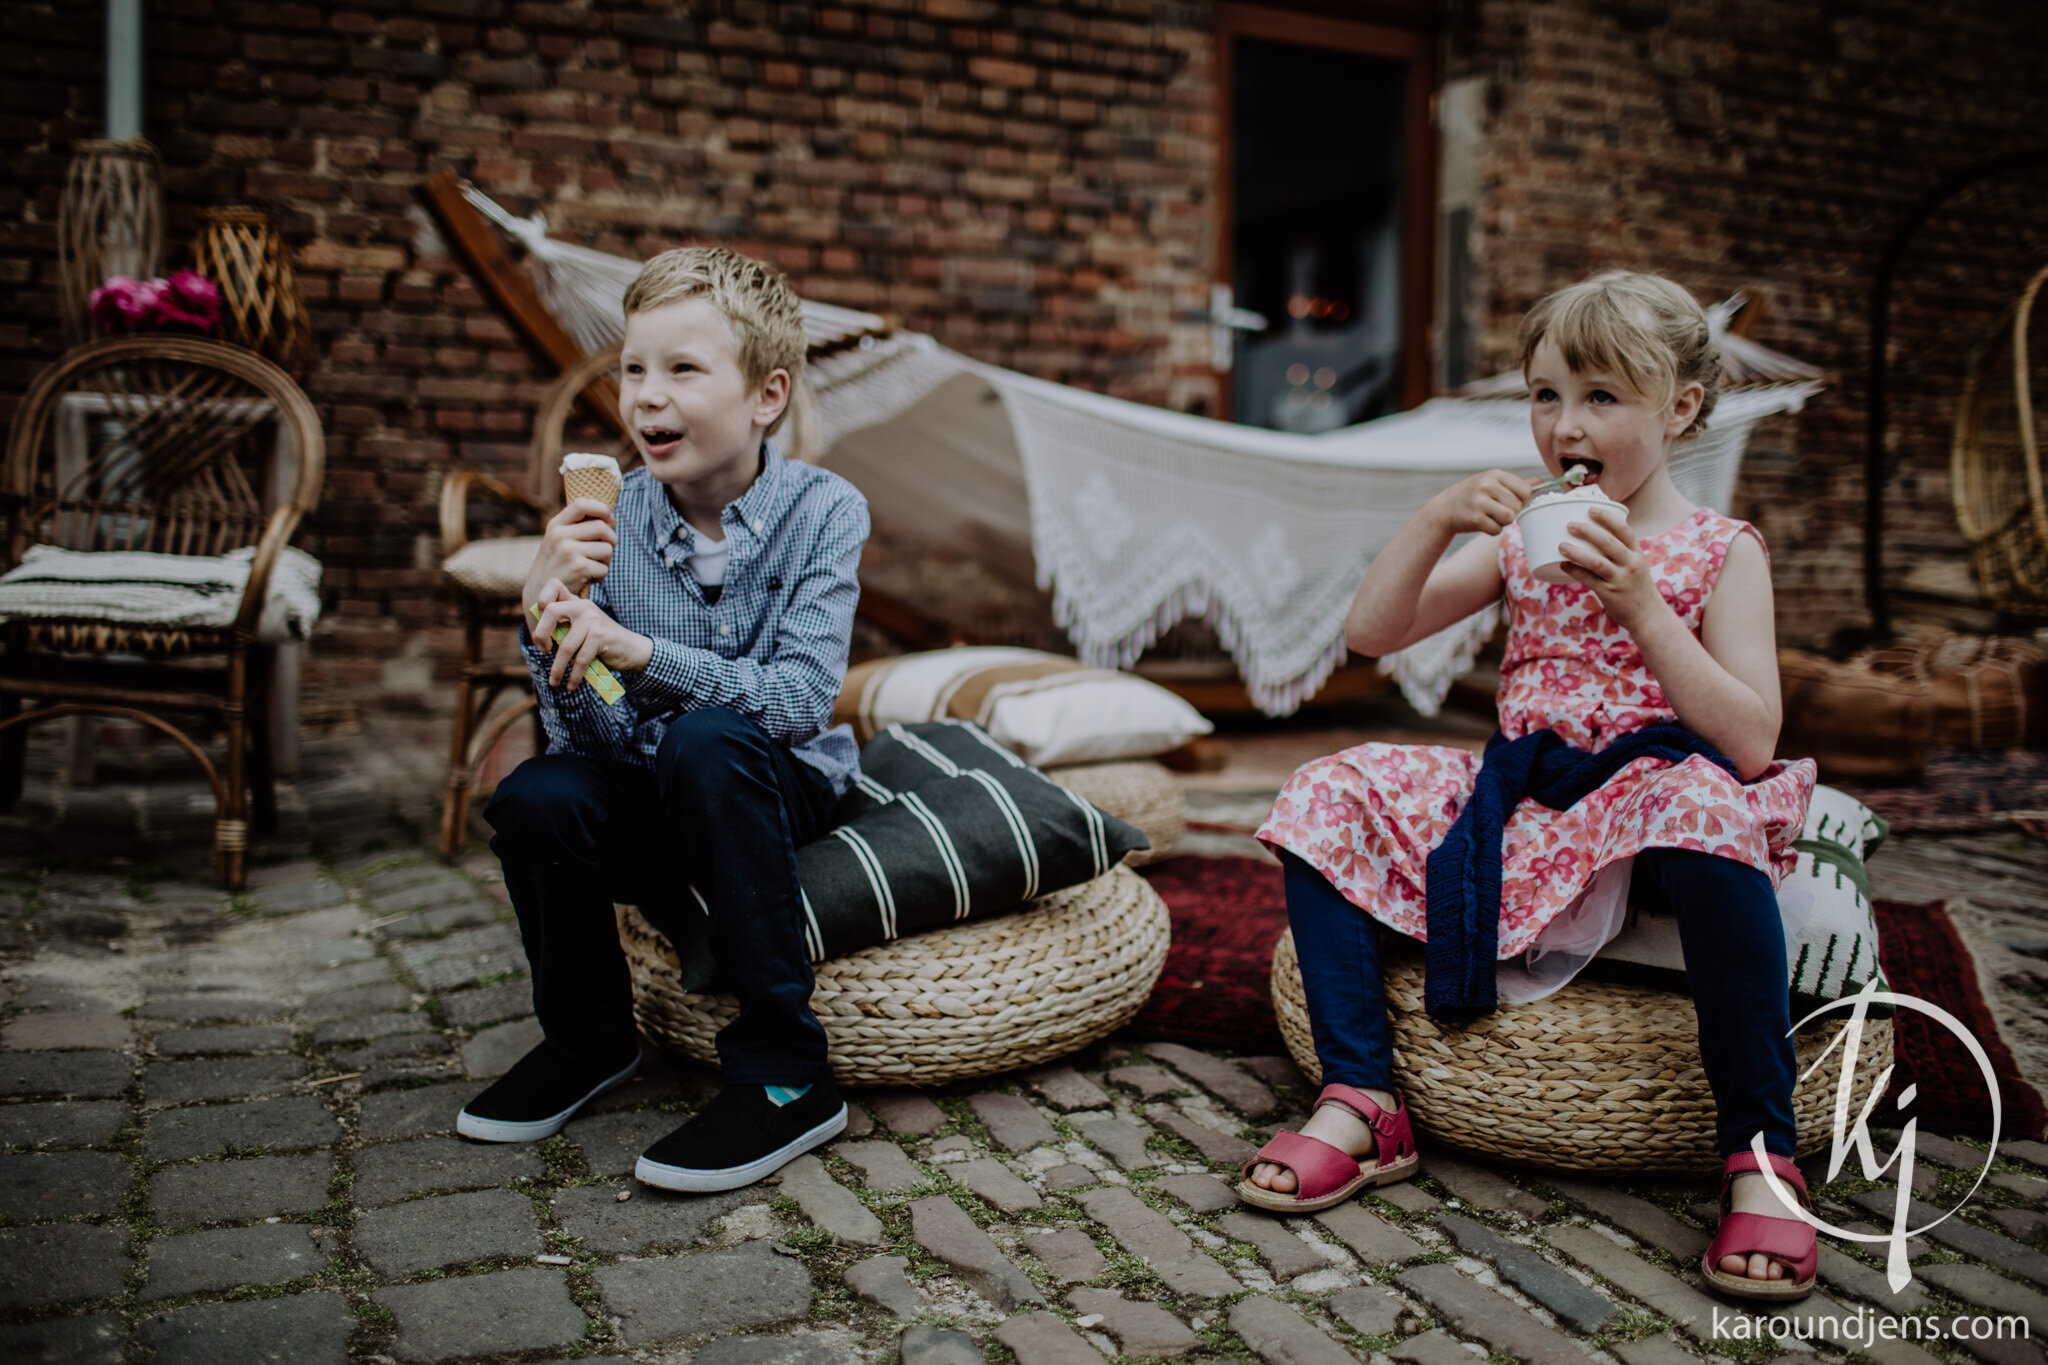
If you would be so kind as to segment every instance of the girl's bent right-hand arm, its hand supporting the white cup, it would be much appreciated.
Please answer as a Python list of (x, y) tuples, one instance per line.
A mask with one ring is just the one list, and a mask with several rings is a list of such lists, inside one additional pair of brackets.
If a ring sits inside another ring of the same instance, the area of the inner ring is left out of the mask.
[(1743, 782), (1751, 782), (1772, 765), (1782, 714), (1772, 571), (1763, 546), (1751, 534), (1729, 544), (1700, 634), (1694, 636), (1651, 581), (1626, 522), (1614, 526), (1608, 516), (1593, 512), (1595, 526), (1579, 532), (1589, 548), (1567, 536), (1565, 553), (1577, 565), (1573, 577), (1591, 585), (1608, 616), (1634, 636), (1679, 722), (1729, 755)]

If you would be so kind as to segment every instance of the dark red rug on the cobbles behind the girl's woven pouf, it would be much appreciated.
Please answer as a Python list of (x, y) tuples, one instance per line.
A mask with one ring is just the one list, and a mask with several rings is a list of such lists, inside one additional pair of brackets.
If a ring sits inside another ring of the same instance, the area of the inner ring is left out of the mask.
[[(1143, 872), (1174, 915), (1174, 943), (1159, 984), (1126, 1033), (1280, 1052), (1270, 988), (1274, 943), (1286, 929), (1280, 868), (1251, 857), (1171, 857)], [(1976, 962), (1942, 902), (1880, 900), (1878, 933), (1892, 990), (1939, 1005), (1985, 1046), (1999, 1074), (2005, 1136), (2040, 1138), (2048, 1128), (2048, 1109), (1999, 1038), (1976, 982)], [(1921, 1128), (1987, 1136), (1991, 1099), (1968, 1050), (1917, 1011), (1901, 1011), (1892, 1036), (1892, 1091), (1872, 1117), (1894, 1126), (1905, 1117), (1896, 1109), (1898, 1093), (1917, 1085), (1911, 1113), (1919, 1115)]]

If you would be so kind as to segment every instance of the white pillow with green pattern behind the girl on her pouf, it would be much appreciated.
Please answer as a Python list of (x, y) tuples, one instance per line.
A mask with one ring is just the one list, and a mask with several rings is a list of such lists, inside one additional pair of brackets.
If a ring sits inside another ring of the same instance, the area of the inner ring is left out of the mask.
[[(1890, 990), (1878, 966), (1878, 917), (1864, 874), (1864, 857), (1884, 843), (1886, 833), (1884, 819), (1853, 796), (1831, 786), (1812, 790), (1806, 827), (1792, 841), (1798, 866), (1778, 886), (1794, 1017), (1855, 995), (1872, 976), (1880, 990)], [(1595, 970), (1595, 976), (1686, 988), (1686, 952), (1675, 915), (1645, 915), (1630, 907), (1622, 931), (1593, 960), (1608, 968)], [(1888, 1015), (1890, 1007), (1870, 1013)]]

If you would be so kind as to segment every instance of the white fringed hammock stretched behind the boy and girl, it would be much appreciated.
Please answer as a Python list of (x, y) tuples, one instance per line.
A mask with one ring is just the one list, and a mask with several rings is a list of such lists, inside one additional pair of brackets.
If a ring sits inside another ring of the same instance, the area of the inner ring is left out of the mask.
[[(586, 346), (610, 346), (637, 264), (547, 235), (475, 190), (532, 252), (539, 287)], [(1819, 370), (1726, 334), (1710, 428), (1671, 475), (1726, 510), (1755, 424), (1819, 391)], [(881, 329), (805, 301), (805, 329)], [(1251, 700), (1286, 714), (1346, 657), (1343, 614), (1366, 565), (1448, 483), (1479, 469), (1536, 475), (1522, 377), (1411, 411), (1300, 436), (1192, 417), (981, 364), (928, 336), (868, 338), (813, 362), (819, 463), (852, 479), (877, 524), (973, 555), (1053, 593), (1081, 659), (1128, 667), (1176, 622), (1206, 620)], [(1489, 608), (1380, 661), (1434, 714), (1499, 624)]]

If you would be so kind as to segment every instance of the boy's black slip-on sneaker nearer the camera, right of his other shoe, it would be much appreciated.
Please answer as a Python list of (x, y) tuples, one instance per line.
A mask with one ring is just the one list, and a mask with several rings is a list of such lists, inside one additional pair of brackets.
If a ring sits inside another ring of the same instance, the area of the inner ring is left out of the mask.
[(633, 1175), (662, 1189), (739, 1189), (774, 1175), (846, 1132), (846, 1101), (831, 1081), (776, 1105), (764, 1085), (727, 1085), (688, 1124), (655, 1142)]

